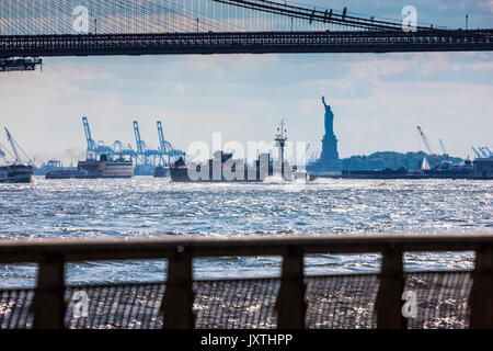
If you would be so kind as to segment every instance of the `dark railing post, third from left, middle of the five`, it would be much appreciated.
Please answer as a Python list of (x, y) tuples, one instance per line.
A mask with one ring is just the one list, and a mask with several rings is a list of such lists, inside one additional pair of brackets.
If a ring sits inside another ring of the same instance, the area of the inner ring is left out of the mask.
[(300, 248), (289, 248), (283, 257), (283, 273), (277, 294), (277, 328), (305, 329), (303, 252)]

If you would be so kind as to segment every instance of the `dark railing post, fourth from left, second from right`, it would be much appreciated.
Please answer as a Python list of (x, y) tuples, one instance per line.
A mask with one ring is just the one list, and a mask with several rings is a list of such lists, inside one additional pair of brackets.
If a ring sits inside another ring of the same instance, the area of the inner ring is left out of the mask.
[(402, 250), (386, 248), (381, 262), (380, 285), (375, 303), (378, 329), (405, 329), (406, 320), (402, 316), (402, 293), (404, 276)]

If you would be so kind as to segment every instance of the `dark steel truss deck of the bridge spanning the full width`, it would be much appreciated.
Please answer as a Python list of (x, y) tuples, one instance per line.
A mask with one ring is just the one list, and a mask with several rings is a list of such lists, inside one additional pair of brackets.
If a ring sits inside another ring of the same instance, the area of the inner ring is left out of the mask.
[(0, 36), (0, 57), (492, 50), (493, 30)]

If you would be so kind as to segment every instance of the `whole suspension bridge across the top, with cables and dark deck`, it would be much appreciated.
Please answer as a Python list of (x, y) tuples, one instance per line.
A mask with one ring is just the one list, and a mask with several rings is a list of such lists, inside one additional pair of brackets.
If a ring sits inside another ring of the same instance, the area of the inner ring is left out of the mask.
[(50, 56), (491, 50), (492, 38), (287, 1), (0, 0), (0, 70)]

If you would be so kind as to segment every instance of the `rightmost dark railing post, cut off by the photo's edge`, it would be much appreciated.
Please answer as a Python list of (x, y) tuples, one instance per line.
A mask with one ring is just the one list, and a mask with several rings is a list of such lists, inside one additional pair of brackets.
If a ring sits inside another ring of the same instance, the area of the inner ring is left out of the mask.
[(472, 329), (493, 328), (493, 246), (475, 251), (472, 288), (469, 295)]

